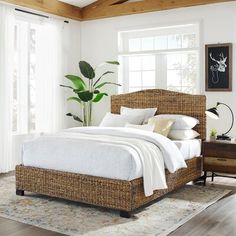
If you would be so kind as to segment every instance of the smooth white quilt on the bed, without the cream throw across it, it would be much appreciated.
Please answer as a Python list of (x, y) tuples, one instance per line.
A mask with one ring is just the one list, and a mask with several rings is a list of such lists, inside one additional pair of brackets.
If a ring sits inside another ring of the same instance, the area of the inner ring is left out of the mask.
[[(112, 132), (117, 135), (120, 132), (127, 137), (131, 135), (127, 128), (121, 130), (114, 130), (114, 128), (112, 130), (108, 128), (100, 129), (97, 128), (96, 132), (101, 134)], [(23, 164), (25, 166), (119, 180), (133, 180), (143, 176), (140, 158), (138, 158), (132, 149), (128, 147), (121, 149), (119, 146), (114, 146), (106, 142), (94, 142), (94, 140), (86, 139), (80, 140), (78, 143), (76, 133), (82, 131), (80, 129), (78, 131), (77, 129), (71, 129), (69, 131), (72, 133), (68, 133), (66, 136), (64, 134), (45, 135), (36, 140), (24, 143), (22, 150)], [(91, 131), (93, 130), (85, 129), (84, 132), (90, 133)], [(168, 164), (168, 159), (172, 156), (171, 162), (169, 160), (170, 163), (167, 165), (172, 173), (179, 168), (186, 167), (181, 152), (178, 152), (178, 148), (164, 136), (159, 135), (157, 137), (157, 134), (152, 133), (150, 135), (147, 131), (141, 132), (136, 129), (132, 129), (132, 136), (146, 137), (146, 139), (150, 139), (150, 142), (154, 142), (157, 138), (161, 139), (163, 141), (161, 149), (165, 152), (165, 164)]]

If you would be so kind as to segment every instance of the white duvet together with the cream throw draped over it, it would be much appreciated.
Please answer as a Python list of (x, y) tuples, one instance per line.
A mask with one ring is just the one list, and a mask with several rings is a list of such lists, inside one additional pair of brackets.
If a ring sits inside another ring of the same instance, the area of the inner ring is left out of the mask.
[(23, 145), (23, 164), (105, 178), (144, 179), (146, 196), (167, 188), (165, 167), (185, 168), (168, 138), (132, 128), (73, 128)]

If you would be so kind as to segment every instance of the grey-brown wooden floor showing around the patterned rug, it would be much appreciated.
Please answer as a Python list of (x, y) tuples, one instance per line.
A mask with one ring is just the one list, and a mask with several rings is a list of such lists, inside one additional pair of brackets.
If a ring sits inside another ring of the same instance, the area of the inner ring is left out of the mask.
[[(0, 178), (6, 175), (0, 175)], [(236, 235), (236, 179), (215, 178), (207, 185), (231, 189), (224, 199), (195, 216), (171, 236), (235, 236)], [(0, 236), (63, 236), (63, 234), (40, 229), (0, 217)]]

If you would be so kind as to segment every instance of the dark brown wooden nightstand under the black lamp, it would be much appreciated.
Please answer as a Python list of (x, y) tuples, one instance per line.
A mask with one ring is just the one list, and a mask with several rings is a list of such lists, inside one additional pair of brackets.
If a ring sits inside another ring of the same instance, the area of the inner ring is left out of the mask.
[[(215, 172), (236, 175), (236, 143), (226, 141), (203, 142), (203, 170), (204, 183), (207, 172), (212, 172), (212, 181)], [(223, 175), (217, 175), (223, 176)], [(236, 178), (234, 176), (226, 176)]]

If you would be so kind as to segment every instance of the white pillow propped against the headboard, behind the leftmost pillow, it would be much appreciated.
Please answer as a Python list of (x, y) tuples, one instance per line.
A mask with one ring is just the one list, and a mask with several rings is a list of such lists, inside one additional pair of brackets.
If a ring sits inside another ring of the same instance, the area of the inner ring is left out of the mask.
[(120, 108), (121, 115), (143, 116), (143, 123), (147, 123), (148, 119), (153, 117), (156, 112), (157, 108), (136, 109), (123, 106)]

